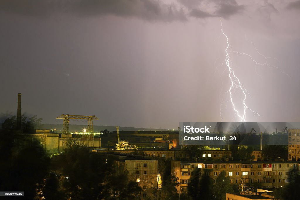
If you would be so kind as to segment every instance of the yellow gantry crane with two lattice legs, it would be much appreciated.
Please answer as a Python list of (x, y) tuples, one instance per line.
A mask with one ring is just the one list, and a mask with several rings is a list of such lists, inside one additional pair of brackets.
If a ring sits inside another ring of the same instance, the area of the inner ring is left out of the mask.
[(69, 134), (69, 123), (70, 123), (70, 119), (85, 119), (88, 121), (88, 128), (86, 130), (88, 136), (87, 136), (87, 140), (88, 143), (91, 142), (92, 147), (94, 147), (94, 126), (93, 126), (93, 120), (97, 120), (99, 118), (95, 117), (95, 115), (60, 115), (59, 117), (57, 117), (56, 119), (63, 119), (63, 127), (62, 127), (62, 133), (63, 134)]

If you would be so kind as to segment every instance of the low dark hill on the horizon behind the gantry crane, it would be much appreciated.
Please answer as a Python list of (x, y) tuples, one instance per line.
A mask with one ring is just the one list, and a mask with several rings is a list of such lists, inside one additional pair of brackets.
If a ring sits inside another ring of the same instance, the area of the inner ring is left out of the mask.
[[(62, 124), (42, 124), (41, 127), (43, 129), (56, 129), (58, 130), (57, 133), (61, 132)], [(82, 129), (87, 128), (87, 125), (77, 125), (77, 124), (69, 124), (69, 131), (81, 131)], [(116, 127), (114, 126), (96, 126), (94, 125), (94, 132), (99, 133), (101, 130), (107, 129), (108, 131), (115, 131)], [(167, 129), (150, 129), (150, 128), (136, 128), (136, 127), (119, 127), (119, 131), (167, 131)]]

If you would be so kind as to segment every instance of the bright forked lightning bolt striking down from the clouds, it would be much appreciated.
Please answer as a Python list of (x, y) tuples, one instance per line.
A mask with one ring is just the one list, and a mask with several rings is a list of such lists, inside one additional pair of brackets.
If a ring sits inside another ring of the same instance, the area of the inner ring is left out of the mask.
[[(247, 109), (249, 109), (253, 115), (258, 115), (260, 117), (260, 115), (254, 111), (253, 109), (250, 109), (247, 105), (246, 105), (246, 97), (247, 95), (250, 95), (249, 91), (247, 91), (245, 88), (244, 88), (244, 85), (241, 84), (240, 80), (238, 79), (237, 76), (235, 76), (234, 74), (234, 70), (232, 69), (232, 63), (230, 61), (230, 52), (232, 51), (231, 49), (231, 46), (229, 44), (229, 39), (227, 37), (227, 35), (223, 32), (223, 25), (222, 25), (222, 20), (220, 18), (220, 22), (221, 22), (221, 31), (222, 31), (222, 34), (226, 37), (226, 40), (227, 40), (227, 47), (225, 49), (225, 53), (226, 53), (226, 58), (225, 58), (225, 63), (226, 63), (226, 67), (227, 69), (229, 70), (229, 79), (230, 79), (230, 82), (231, 82), (231, 85), (230, 85), (230, 88), (229, 90), (227, 91), (229, 94), (230, 94), (230, 101), (231, 101), (231, 104), (232, 104), (232, 107), (234, 109), (234, 112), (235, 112), (235, 115), (238, 116), (238, 118), (240, 119), (240, 121), (246, 121), (246, 111)], [(228, 52), (229, 50), (229, 52)], [(257, 50), (257, 49), (256, 49)], [(238, 53), (238, 52), (236, 52)], [(252, 59), (253, 60), (253, 59)], [(254, 60), (253, 60), (254, 61)], [(244, 108), (241, 112), (239, 112), (237, 109), (236, 109), (236, 105), (234, 103), (234, 100), (233, 100), (233, 90), (235, 90), (235, 92), (239, 92), (239, 94), (241, 95), (241, 98), (242, 98), (242, 107)], [(226, 92), (226, 93), (227, 93)], [(221, 104), (222, 106), (222, 104)], [(222, 115), (221, 115), (221, 112), (220, 112), (220, 117), (221, 117), (221, 120), (223, 121), (223, 118), (222, 118)]]

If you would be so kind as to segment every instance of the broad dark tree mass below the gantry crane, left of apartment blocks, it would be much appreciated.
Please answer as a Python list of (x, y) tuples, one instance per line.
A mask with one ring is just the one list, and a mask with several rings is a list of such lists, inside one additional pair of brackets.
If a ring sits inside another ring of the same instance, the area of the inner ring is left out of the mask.
[[(113, 158), (92, 154), (72, 140), (64, 153), (53, 156), (51, 160), (51, 173), (58, 175), (60, 186), (53, 190), (62, 192), (63, 198), (129, 200), (136, 199), (141, 191), (137, 182), (128, 178), (124, 167), (115, 165)], [(48, 179), (46, 183), (51, 181)]]

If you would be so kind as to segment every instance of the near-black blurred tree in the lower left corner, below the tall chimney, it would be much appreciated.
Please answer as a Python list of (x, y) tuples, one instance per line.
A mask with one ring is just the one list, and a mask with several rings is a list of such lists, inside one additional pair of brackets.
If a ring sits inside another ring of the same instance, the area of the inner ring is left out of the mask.
[(39, 141), (18, 133), (0, 134), (0, 188), (24, 191), (25, 199), (35, 199), (49, 167), (49, 158)]

